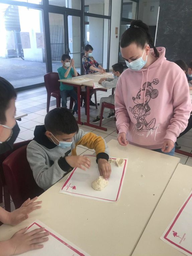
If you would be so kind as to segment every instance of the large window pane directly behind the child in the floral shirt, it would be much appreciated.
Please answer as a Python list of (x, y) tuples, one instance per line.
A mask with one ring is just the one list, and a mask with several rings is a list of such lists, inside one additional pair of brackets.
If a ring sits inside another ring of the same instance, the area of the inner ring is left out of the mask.
[(94, 59), (104, 68), (107, 68), (109, 20), (87, 17), (85, 22), (85, 45), (93, 47)]

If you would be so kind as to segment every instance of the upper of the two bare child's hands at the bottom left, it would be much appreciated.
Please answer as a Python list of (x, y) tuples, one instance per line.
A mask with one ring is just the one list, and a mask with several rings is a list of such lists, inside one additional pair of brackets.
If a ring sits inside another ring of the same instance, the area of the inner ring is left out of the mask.
[(42, 201), (34, 202), (37, 199), (37, 196), (30, 200), (28, 198), (18, 209), (7, 212), (7, 221), (5, 224), (15, 226), (22, 221), (26, 220), (28, 218), (28, 214), (30, 214), (31, 211), (39, 209), (41, 206), (38, 204), (41, 204)]

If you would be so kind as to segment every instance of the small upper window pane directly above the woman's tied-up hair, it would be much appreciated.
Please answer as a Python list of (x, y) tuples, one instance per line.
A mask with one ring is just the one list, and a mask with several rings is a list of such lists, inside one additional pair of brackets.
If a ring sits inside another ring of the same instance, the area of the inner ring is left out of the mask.
[(130, 0), (123, 0), (122, 18), (135, 19), (137, 12), (137, 3)]

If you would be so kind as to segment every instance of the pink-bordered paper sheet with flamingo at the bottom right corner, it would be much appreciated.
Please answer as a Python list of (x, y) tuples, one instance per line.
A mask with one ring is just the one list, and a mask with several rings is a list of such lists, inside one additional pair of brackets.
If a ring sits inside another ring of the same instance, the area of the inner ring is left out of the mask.
[(161, 239), (186, 255), (192, 255), (192, 192), (165, 230)]

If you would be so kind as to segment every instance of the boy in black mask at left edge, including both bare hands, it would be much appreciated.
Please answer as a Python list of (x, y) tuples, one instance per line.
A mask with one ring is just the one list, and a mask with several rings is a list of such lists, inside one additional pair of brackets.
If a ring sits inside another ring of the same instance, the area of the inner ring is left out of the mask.
[[(13, 148), (13, 143), (19, 133), (19, 127), (15, 121), (15, 99), (16, 92), (13, 86), (4, 78), (0, 77), (0, 154)], [(16, 128), (15, 128), (16, 127)], [(27, 199), (21, 207), (8, 212), (0, 207), (0, 222), (15, 226), (28, 218), (28, 214), (39, 209), (41, 201), (37, 197)], [(21, 254), (30, 250), (43, 248), (42, 242), (46, 242), (49, 232), (44, 229), (35, 229), (26, 233), (27, 228), (16, 232), (10, 239), (0, 241), (0, 255)]]

